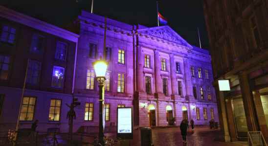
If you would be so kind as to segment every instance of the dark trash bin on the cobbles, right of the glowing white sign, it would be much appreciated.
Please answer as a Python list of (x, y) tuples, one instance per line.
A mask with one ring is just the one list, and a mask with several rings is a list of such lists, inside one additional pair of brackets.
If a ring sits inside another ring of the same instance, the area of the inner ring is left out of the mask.
[(153, 146), (152, 128), (140, 128), (141, 146)]

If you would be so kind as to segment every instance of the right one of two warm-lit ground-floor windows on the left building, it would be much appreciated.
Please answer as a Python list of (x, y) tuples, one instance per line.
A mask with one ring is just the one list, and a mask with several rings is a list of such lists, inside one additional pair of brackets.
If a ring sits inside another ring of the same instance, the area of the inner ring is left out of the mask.
[(62, 105), (61, 100), (58, 99), (50, 100), (49, 116), (48, 116), (49, 121), (60, 121), (61, 105)]

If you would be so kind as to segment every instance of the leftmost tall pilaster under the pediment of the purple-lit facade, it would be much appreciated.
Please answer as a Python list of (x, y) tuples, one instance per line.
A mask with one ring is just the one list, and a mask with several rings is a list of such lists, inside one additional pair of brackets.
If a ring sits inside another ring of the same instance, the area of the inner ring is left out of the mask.
[(143, 75), (143, 62), (141, 46), (137, 49), (137, 91), (145, 92), (144, 90), (144, 75)]

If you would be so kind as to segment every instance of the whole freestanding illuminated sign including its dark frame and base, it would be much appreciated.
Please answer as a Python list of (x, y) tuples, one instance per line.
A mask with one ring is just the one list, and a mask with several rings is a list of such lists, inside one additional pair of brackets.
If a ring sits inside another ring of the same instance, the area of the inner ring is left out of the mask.
[(132, 108), (117, 108), (117, 137), (133, 139)]

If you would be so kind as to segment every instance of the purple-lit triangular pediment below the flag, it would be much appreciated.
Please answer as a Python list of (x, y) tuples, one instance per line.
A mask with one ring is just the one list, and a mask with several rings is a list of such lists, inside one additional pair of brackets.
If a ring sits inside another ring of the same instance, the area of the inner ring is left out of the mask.
[(177, 43), (189, 48), (192, 48), (192, 46), (182, 37), (179, 36), (172, 28), (169, 26), (160, 26), (160, 27), (152, 27), (152, 28), (145, 28), (145, 29), (139, 29), (138, 33), (158, 37), (173, 43)]

